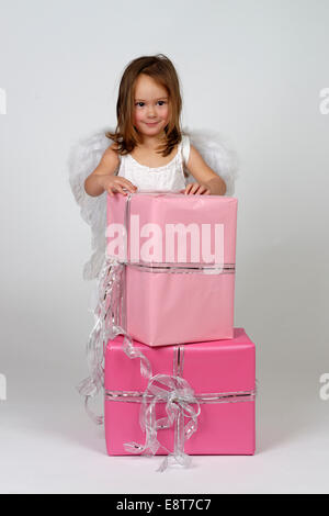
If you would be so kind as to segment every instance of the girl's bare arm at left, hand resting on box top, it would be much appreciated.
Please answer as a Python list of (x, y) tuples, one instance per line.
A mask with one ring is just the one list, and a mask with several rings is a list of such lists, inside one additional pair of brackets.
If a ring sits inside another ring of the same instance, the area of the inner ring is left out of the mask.
[(136, 187), (125, 178), (115, 176), (115, 171), (120, 165), (120, 159), (115, 150), (115, 143), (106, 148), (102, 159), (94, 171), (88, 176), (84, 181), (84, 190), (91, 197), (101, 195), (107, 191), (110, 195), (120, 192), (126, 195), (124, 188), (134, 193)]

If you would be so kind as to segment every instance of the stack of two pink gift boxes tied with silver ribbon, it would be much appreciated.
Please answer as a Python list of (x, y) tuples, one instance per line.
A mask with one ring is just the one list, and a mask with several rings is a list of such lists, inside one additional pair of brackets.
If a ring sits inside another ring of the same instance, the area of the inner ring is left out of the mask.
[(234, 198), (109, 197), (107, 256), (122, 272), (110, 314), (121, 329), (105, 348), (109, 455), (254, 453), (256, 350), (234, 328), (236, 228)]

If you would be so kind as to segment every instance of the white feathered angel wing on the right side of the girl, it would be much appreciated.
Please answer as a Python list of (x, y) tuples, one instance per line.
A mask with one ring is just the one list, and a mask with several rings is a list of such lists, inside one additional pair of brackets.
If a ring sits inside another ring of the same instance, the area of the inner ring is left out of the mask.
[[(238, 177), (238, 157), (232, 150), (230, 143), (223, 135), (206, 131), (189, 131), (184, 133), (190, 136), (190, 143), (198, 150), (206, 164), (220, 176), (226, 182), (226, 195), (235, 192), (235, 181)], [(186, 182), (194, 182), (193, 176), (189, 175)]]

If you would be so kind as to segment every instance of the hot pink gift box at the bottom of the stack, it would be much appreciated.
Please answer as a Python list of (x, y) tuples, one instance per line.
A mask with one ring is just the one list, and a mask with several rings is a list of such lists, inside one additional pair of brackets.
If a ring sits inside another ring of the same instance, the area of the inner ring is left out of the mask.
[[(105, 437), (111, 456), (129, 455), (126, 442), (145, 442), (139, 413), (148, 381), (140, 375), (139, 360), (129, 359), (122, 343), (118, 336), (105, 350)], [(188, 455), (254, 453), (256, 348), (243, 329), (235, 329), (230, 340), (157, 349), (137, 341), (134, 346), (150, 361), (152, 374), (179, 372), (200, 400), (197, 430), (184, 446)], [(166, 403), (157, 403), (157, 417), (166, 415), (164, 408)], [(169, 450), (174, 431), (174, 425), (158, 430), (159, 442)], [(157, 455), (167, 452), (160, 448)]]

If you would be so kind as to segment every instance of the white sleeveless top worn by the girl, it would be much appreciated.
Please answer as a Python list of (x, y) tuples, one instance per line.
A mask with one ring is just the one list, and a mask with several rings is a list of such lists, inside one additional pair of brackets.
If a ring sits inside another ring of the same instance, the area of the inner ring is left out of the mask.
[(186, 187), (184, 168), (190, 156), (190, 138), (182, 136), (175, 156), (162, 167), (147, 167), (131, 154), (120, 157), (117, 176), (128, 179), (138, 191), (178, 191)]

